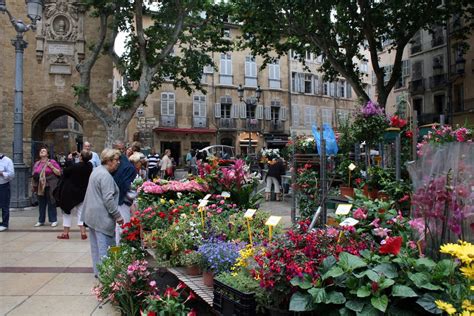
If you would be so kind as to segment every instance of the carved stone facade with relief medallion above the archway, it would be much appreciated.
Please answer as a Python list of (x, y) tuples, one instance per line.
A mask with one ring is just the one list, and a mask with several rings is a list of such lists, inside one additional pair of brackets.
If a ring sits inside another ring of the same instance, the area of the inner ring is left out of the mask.
[[(45, 0), (43, 18), (36, 32), (24, 34), (29, 43), (24, 53), (24, 156), (31, 162), (32, 148), (48, 142), (46, 127), (56, 118), (69, 115), (82, 125), (84, 141), (101, 151), (105, 127), (90, 112), (75, 105), (73, 85), (80, 82), (75, 70), (87, 57), (87, 43), (97, 40), (98, 21), (79, 0)], [(7, 8), (18, 19), (27, 21), (24, 1), (7, 1)], [(11, 156), (13, 142), (16, 36), (8, 17), (0, 14), (0, 151)], [(106, 111), (112, 103), (112, 62), (100, 58), (92, 71), (91, 97)], [(81, 140), (82, 141), (82, 140)], [(34, 154), (34, 153), (33, 153)]]

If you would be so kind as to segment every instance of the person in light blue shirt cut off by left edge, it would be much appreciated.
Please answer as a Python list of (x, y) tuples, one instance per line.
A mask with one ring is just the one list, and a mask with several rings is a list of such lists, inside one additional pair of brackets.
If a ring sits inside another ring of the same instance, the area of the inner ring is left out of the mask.
[(0, 153), (0, 208), (2, 223), (0, 232), (8, 229), (10, 220), (10, 181), (15, 177), (15, 169), (10, 158)]

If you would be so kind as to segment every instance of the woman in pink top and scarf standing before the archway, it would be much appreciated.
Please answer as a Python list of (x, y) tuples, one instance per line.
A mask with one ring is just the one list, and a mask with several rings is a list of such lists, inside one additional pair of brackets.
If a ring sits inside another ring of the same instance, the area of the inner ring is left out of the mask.
[(48, 208), (48, 219), (51, 226), (58, 226), (56, 201), (53, 191), (56, 188), (61, 175), (61, 167), (54, 159), (49, 159), (46, 147), (39, 152), (40, 159), (33, 165), (33, 192), (38, 196), (39, 218), (34, 227), (43, 226), (46, 220), (46, 207)]

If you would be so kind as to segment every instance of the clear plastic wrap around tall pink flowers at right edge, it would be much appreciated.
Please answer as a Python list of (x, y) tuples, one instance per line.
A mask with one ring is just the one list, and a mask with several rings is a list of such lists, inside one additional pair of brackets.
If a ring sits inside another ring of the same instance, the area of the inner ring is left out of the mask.
[(413, 223), (428, 252), (436, 254), (442, 243), (473, 240), (474, 144), (454, 140), (422, 147), (419, 160), (408, 167)]

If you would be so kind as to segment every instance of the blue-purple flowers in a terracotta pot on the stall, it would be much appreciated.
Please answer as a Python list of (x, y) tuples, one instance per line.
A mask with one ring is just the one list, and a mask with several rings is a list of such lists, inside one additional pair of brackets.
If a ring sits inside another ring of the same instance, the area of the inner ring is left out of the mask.
[(214, 275), (230, 271), (239, 257), (244, 245), (231, 241), (208, 240), (198, 249), (202, 256), (203, 279), (206, 286), (212, 287)]

